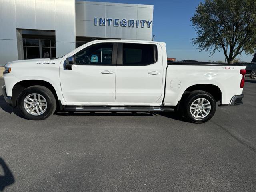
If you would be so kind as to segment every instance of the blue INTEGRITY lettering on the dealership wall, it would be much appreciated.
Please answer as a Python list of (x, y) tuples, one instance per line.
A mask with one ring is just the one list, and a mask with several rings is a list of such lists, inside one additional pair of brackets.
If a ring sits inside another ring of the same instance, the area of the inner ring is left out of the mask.
[(133, 19), (111, 19), (111, 18), (94, 18), (94, 25), (99, 26), (122, 26), (122, 27), (141, 27), (144, 28), (144, 26), (147, 26), (150, 28), (152, 24), (152, 20), (133, 20)]

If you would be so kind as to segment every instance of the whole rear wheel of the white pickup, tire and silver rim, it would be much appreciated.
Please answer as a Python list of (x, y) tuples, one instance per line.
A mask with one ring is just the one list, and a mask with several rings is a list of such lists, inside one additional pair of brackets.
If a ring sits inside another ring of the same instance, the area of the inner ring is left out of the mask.
[(182, 115), (193, 123), (204, 123), (210, 120), (215, 111), (216, 101), (210, 93), (205, 91), (192, 91), (182, 102)]

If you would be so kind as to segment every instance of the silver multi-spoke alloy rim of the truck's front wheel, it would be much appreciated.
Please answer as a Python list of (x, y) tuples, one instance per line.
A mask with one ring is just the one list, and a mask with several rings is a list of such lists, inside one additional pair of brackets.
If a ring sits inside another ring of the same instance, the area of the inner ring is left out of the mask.
[(42, 115), (47, 108), (46, 99), (38, 93), (27, 95), (24, 99), (23, 105), (26, 112), (35, 116)]

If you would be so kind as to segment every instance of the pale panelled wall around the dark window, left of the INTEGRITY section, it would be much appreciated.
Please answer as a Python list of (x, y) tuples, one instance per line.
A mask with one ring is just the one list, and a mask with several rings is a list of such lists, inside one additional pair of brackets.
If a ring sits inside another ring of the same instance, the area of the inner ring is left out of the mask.
[(75, 0), (0, 0), (0, 66), (23, 59), (16, 29), (54, 30), (63, 56), (75, 48)]

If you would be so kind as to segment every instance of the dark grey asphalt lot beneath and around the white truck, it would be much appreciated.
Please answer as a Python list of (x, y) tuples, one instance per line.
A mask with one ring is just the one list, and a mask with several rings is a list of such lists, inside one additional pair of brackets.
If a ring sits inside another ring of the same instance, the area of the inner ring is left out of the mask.
[(204, 124), (175, 112), (30, 121), (0, 90), (0, 191), (255, 192), (256, 80), (246, 79), (244, 95)]

